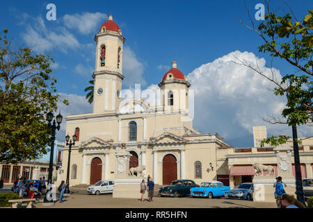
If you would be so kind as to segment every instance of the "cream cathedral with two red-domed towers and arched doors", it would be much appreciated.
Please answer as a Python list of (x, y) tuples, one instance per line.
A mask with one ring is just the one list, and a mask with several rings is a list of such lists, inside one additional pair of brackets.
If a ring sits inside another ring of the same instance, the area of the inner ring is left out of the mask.
[[(228, 166), (221, 147), (228, 145), (217, 133), (200, 133), (193, 128), (188, 108), (191, 86), (177, 63), (160, 76), (160, 104), (141, 98), (122, 100), (123, 44), (118, 24), (109, 20), (95, 35), (93, 112), (67, 116), (66, 133), (77, 135), (70, 160), (70, 185), (114, 180), (115, 151), (125, 144), (131, 154), (129, 167), (145, 166), (156, 184), (189, 179), (197, 184), (222, 178), (227, 185)], [(136, 95), (135, 95), (136, 96)], [(67, 166), (68, 147), (63, 148)], [(61, 174), (65, 180), (66, 169)], [(220, 180), (220, 179), (219, 179)]]

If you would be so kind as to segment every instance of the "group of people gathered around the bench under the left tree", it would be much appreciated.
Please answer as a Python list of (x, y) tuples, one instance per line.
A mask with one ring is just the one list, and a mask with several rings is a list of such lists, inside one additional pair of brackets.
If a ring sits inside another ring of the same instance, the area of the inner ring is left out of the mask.
[(35, 181), (26, 178), (17, 178), (13, 183), (13, 192), (20, 198), (41, 198), (47, 189), (45, 177), (40, 178), (38, 185), (34, 183)]

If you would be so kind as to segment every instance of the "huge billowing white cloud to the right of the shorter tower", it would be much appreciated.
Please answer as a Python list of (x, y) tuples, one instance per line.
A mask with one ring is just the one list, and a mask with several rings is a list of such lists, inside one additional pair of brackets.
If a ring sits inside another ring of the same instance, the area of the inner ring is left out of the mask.
[[(193, 126), (204, 133), (218, 133), (225, 139), (252, 135), (252, 126), (266, 125), (268, 135), (291, 135), (286, 125), (265, 123), (262, 117), (279, 116), (284, 97), (273, 95), (274, 85), (247, 67), (238, 65), (236, 58), (259, 65), (271, 75), (264, 58), (234, 51), (198, 67), (188, 74), (191, 89), (195, 89), (195, 118)], [(278, 79), (278, 70), (274, 70)], [(300, 135), (312, 135), (312, 128), (301, 127)], [(252, 140), (252, 137), (251, 137)], [(252, 143), (252, 141), (251, 141)], [(232, 144), (236, 145), (236, 144)]]

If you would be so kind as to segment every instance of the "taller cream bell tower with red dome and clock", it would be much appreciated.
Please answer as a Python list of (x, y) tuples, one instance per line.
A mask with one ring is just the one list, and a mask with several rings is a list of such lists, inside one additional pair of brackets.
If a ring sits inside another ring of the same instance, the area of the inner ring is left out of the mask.
[(125, 38), (118, 24), (109, 15), (95, 35), (96, 58), (93, 112), (116, 112), (122, 89), (122, 52)]

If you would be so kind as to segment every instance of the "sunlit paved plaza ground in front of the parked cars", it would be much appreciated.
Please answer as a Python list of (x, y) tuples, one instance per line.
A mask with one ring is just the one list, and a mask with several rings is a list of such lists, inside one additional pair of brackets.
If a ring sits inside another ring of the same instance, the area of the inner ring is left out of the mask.
[(99, 196), (87, 194), (72, 194), (64, 198), (63, 203), (56, 202), (53, 206), (43, 206), (35, 203), (37, 208), (276, 208), (275, 203), (254, 203), (248, 200), (233, 200), (225, 198), (170, 198), (155, 197), (152, 202), (147, 198), (139, 199), (113, 198), (112, 194)]

